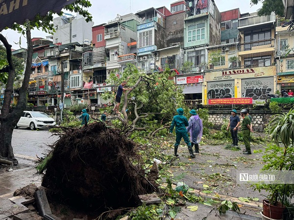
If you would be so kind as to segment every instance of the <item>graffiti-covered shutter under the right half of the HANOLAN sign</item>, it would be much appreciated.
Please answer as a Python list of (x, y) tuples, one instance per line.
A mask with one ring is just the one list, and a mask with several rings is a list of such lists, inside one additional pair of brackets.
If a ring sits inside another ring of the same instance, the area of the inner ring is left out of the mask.
[(270, 94), (272, 88), (270, 88), (270, 84), (272, 84), (270, 80), (264, 82), (261, 80), (250, 80), (245, 81), (242, 84), (243, 89), (245, 90), (242, 92), (242, 97), (249, 97), (253, 100), (266, 100), (268, 97), (267, 94)]

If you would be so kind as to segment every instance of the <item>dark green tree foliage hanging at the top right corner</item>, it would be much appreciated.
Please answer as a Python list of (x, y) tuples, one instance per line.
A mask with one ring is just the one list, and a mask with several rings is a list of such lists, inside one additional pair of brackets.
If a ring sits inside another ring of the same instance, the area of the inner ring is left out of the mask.
[(258, 10), (258, 16), (270, 15), (274, 12), (280, 17), (284, 17), (284, 4), (282, 0), (251, 0), (250, 4), (255, 5), (262, 2), (262, 7)]

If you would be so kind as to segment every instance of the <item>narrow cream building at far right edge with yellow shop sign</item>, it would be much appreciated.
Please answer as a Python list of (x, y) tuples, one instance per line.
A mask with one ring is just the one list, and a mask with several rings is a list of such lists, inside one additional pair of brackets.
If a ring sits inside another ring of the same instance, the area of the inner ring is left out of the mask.
[(284, 18), (276, 21), (276, 64), (277, 64), (277, 89), (279, 91), (291, 89), (294, 91), (294, 32), (282, 27)]

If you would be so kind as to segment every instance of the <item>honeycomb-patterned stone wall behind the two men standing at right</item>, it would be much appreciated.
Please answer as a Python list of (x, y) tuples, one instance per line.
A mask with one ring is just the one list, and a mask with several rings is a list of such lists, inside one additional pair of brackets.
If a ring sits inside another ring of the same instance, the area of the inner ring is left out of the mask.
[[(221, 129), (221, 126), (225, 123), (229, 122), (230, 113), (209, 113), (208, 121), (214, 125), (214, 129)], [(270, 117), (272, 114), (261, 114), (261, 113), (251, 113), (252, 117), (252, 128), (256, 132), (264, 132), (266, 125), (270, 121)], [(242, 122), (242, 117), (240, 117), (240, 121)]]

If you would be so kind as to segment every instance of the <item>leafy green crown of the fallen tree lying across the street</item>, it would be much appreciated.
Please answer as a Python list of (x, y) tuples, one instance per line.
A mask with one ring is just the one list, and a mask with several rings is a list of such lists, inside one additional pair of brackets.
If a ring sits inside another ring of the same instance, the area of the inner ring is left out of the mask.
[[(125, 80), (132, 88), (123, 93), (120, 121), (133, 131), (146, 131), (150, 135), (169, 127), (175, 110), (184, 108), (184, 94), (182, 88), (174, 84), (174, 75), (169, 69), (146, 74), (134, 65), (128, 65), (121, 74), (111, 73), (109, 84), (118, 88)], [(104, 92), (102, 98), (114, 100), (114, 94)]]

